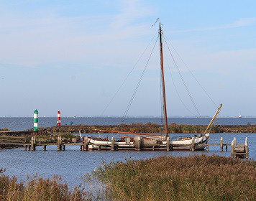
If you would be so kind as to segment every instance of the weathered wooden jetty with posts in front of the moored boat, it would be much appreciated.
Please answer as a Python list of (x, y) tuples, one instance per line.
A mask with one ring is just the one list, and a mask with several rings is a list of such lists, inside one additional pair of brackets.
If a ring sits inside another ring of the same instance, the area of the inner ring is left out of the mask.
[[(111, 150), (111, 151), (118, 151), (124, 150), (123, 147), (119, 147), (118, 144), (115, 144), (114, 137), (111, 138), (110, 146), (106, 146), (106, 144), (97, 144), (99, 147), (97, 150)], [(61, 136), (58, 136), (56, 142), (41, 142), (37, 141), (36, 136), (32, 136), (30, 141), (27, 141), (24, 137), (19, 136), (0, 136), (0, 144), (5, 145), (17, 145), (23, 146), (25, 151), (35, 151), (37, 146), (43, 146), (43, 150), (47, 150), (47, 146), (57, 146), (58, 151), (65, 151), (65, 146), (78, 146), (80, 147), (81, 151), (88, 151), (90, 142), (88, 137), (84, 137), (83, 142), (73, 142), (73, 141), (63, 141)], [(129, 141), (127, 141), (129, 144)], [(244, 144), (237, 144), (236, 138), (232, 140), (230, 144), (224, 143), (223, 137), (221, 137), (219, 143), (215, 144), (197, 144), (197, 148), (202, 146), (202, 149), (206, 147), (206, 151), (209, 151), (209, 146), (219, 146), (220, 151), (228, 151), (228, 146), (231, 148), (231, 156), (232, 157), (239, 157), (248, 159), (249, 157), (249, 145), (248, 139), (245, 138)], [(192, 139), (192, 143), (190, 145), (190, 151), (196, 151), (194, 144), (194, 139)], [(170, 144), (142, 144), (140, 141), (137, 144), (134, 144), (132, 148), (125, 149), (131, 151), (173, 151), (173, 147)]]

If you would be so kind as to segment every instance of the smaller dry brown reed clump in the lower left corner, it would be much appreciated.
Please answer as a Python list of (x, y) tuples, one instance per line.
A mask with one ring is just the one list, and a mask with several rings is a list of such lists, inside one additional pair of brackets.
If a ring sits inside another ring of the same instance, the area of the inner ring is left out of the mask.
[(53, 175), (52, 179), (41, 177), (27, 178), (27, 182), (17, 182), (16, 177), (4, 175), (0, 169), (0, 200), (48, 201), (48, 200), (91, 200), (91, 195), (81, 187), (68, 189), (68, 184), (60, 183), (61, 177)]

